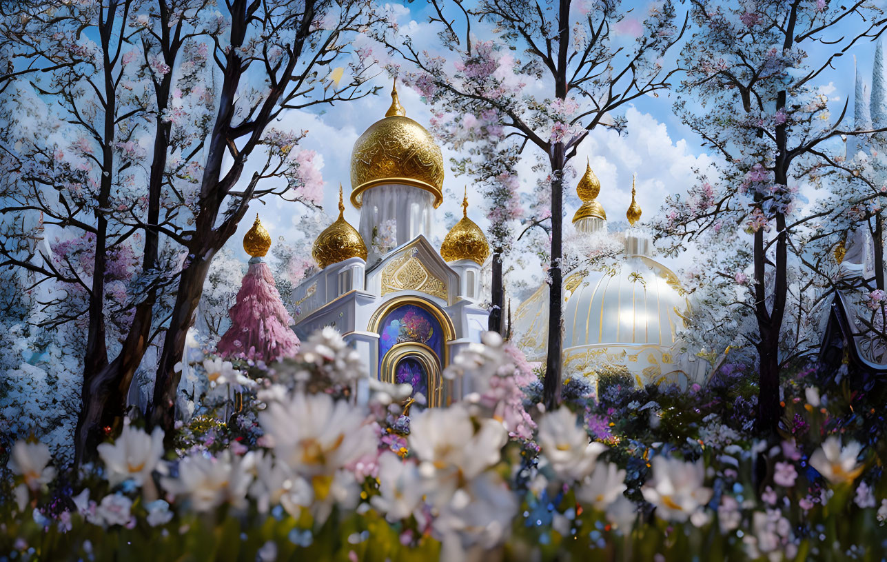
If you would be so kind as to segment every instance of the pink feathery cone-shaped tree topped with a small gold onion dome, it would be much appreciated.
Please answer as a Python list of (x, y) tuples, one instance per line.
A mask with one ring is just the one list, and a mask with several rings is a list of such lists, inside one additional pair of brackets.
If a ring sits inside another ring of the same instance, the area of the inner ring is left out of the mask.
[(231, 328), (219, 340), (217, 350), (223, 357), (264, 360), (270, 363), (292, 357), (299, 351), (299, 338), (289, 328), (292, 321), (262, 257), (271, 248), (271, 236), (258, 216), (243, 237), (243, 249), (252, 256), (237, 301), (229, 309)]

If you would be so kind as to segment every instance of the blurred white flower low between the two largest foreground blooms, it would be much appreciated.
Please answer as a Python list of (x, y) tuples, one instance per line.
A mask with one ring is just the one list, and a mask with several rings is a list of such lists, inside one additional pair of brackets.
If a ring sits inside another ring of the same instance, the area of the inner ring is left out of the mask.
[(422, 492), (422, 480), (415, 463), (404, 461), (390, 452), (379, 456), (380, 495), (373, 495), (370, 503), (377, 511), (384, 513), (390, 523), (410, 515), (421, 520)]

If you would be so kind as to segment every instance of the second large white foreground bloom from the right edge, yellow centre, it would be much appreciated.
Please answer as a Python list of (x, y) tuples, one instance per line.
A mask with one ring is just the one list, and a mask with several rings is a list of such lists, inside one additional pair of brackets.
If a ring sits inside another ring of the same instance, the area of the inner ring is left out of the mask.
[(641, 493), (656, 507), (659, 518), (686, 521), (711, 499), (711, 489), (704, 487), (705, 465), (685, 463), (667, 456), (653, 458), (653, 478)]

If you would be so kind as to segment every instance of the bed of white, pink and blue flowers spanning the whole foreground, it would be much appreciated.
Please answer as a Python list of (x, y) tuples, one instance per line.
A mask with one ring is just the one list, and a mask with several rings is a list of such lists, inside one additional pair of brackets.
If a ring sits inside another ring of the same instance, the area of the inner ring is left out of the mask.
[(876, 386), (829, 388), (800, 370), (783, 384), (784, 431), (762, 440), (742, 366), (687, 392), (614, 378), (595, 396), (574, 379), (545, 412), (520, 353), (483, 341), (446, 371), (479, 391), (448, 408), (381, 383), (358, 408), (357, 358), (326, 329), (270, 369), (205, 361), (208, 395), (173, 450), (138, 420), (76, 473), (16, 443), (0, 560), (887, 553)]

